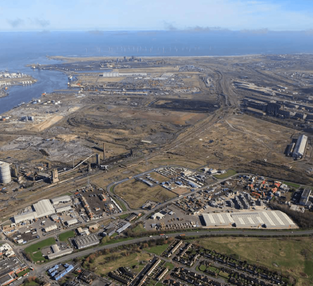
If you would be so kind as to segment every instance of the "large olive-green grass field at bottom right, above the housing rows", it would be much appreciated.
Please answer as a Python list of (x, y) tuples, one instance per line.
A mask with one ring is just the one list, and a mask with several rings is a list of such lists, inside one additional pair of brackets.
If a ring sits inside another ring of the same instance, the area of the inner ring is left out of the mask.
[(219, 237), (218, 240), (200, 239), (199, 243), (219, 253), (233, 254), (240, 260), (280, 271), (287, 277), (291, 275), (297, 279), (299, 286), (312, 282), (313, 240), (309, 237)]

